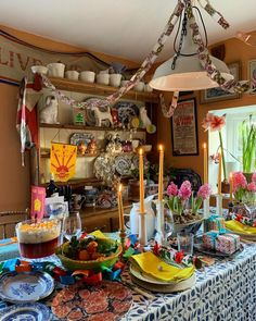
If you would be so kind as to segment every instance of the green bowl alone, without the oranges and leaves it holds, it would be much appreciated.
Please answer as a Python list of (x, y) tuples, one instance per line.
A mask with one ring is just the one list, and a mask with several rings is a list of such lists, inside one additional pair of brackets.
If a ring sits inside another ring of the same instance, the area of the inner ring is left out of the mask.
[[(106, 242), (116, 244), (116, 239), (112, 238), (97, 238), (99, 242)], [(102, 268), (111, 268), (118, 260), (118, 256), (121, 254), (121, 245), (118, 245), (116, 251), (110, 257), (99, 258), (98, 260), (80, 261), (67, 258), (63, 250), (68, 246), (69, 242), (64, 243), (56, 249), (56, 256), (62, 261), (62, 264), (69, 271), (76, 270), (94, 270), (101, 271)], [(65, 250), (64, 250), (65, 251)]]

